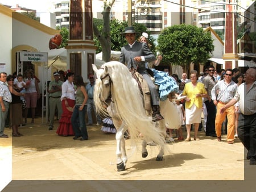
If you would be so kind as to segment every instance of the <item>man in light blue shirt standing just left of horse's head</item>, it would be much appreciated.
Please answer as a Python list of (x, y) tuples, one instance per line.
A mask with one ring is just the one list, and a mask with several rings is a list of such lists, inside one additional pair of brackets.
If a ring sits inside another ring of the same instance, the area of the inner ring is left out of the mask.
[(88, 124), (87, 125), (92, 126), (92, 124), (93, 124), (93, 119), (92, 119), (92, 109), (93, 109), (94, 114), (97, 117), (97, 126), (99, 126), (100, 124), (102, 124), (102, 120), (100, 118), (100, 115), (96, 114), (96, 107), (95, 107), (94, 101), (93, 101), (93, 91), (94, 91), (94, 85), (95, 85), (93, 74), (89, 74), (89, 81), (90, 82), (85, 87), (86, 92), (88, 94), (88, 100), (87, 100)]

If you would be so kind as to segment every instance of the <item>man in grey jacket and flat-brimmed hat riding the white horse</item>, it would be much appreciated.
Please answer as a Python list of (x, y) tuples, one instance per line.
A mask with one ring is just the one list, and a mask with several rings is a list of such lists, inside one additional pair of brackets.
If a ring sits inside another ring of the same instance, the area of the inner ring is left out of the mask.
[(148, 48), (147, 43), (140, 43), (135, 40), (138, 33), (134, 30), (134, 27), (126, 27), (125, 32), (121, 33), (121, 35), (125, 36), (128, 44), (122, 47), (119, 62), (127, 64), (130, 72), (135, 70), (142, 74), (144, 80), (146, 80), (151, 95), (152, 119), (156, 122), (163, 119), (163, 116), (160, 115), (159, 93), (145, 67), (145, 62), (154, 61), (156, 58)]

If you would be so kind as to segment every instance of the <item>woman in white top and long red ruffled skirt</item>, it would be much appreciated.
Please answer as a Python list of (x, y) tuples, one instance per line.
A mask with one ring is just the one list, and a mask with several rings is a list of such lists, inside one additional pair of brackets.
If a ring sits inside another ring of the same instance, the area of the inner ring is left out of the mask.
[(75, 85), (74, 81), (74, 73), (68, 72), (66, 76), (66, 81), (61, 86), (61, 106), (63, 113), (60, 118), (60, 125), (57, 128), (56, 133), (60, 136), (73, 136), (75, 135), (73, 132), (71, 117), (73, 113), (73, 107), (75, 106)]

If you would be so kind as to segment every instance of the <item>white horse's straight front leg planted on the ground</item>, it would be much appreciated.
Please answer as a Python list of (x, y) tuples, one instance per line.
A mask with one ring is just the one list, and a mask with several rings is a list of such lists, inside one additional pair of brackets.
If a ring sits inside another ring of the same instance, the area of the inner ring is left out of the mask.
[(126, 156), (126, 150), (125, 150), (125, 139), (123, 137), (123, 134), (125, 133), (126, 128), (124, 124), (122, 123), (121, 126), (118, 128), (117, 133), (115, 133), (115, 140), (117, 141), (117, 171), (123, 171), (125, 170), (126, 162), (127, 162), (127, 156)]

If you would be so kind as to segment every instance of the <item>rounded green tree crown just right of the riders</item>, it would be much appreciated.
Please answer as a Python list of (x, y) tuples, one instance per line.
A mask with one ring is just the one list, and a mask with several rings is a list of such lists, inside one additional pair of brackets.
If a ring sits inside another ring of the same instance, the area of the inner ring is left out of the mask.
[(158, 37), (158, 50), (163, 63), (181, 65), (188, 73), (191, 62), (204, 64), (214, 50), (210, 32), (191, 25), (174, 25), (165, 28)]

